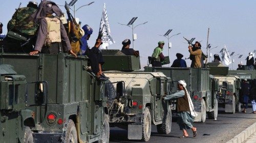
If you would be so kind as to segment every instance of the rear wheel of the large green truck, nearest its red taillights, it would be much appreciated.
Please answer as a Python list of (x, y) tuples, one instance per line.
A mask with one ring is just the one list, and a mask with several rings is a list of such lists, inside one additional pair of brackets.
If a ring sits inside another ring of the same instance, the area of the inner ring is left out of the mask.
[(77, 143), (76, 126), (72, 120), (68, 122), (68, 128), (65, 135), (65, 142)]

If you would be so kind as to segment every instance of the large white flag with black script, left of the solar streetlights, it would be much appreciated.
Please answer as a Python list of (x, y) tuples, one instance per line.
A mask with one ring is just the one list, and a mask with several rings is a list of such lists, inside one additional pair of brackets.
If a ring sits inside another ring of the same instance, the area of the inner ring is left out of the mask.
[[(102, 30), (103, 28), (103, 30)], [(108, 20), (108, 15), (106, 14), (106, 7), (105, 7), (105, 3), (104, 3), (104, 7), (103, 7), (103, 12), (102, 12), (102, 17), (100, 20), (100, 27), (99, 27), (99, 31), (102, 31), (102, 45), (100, 45), (100, 49), (108, 49), (108, 46), (115, 43), (114, 39), (112, 38), (111, 34), (110, 34), (110, 24), (109, 24), (109, 20)]]

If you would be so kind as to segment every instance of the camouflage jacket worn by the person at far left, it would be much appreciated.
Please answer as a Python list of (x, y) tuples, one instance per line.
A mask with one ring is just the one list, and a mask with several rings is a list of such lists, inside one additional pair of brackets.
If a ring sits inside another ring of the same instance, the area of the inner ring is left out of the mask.
[(13, 14), (12, 19), (7, 24), (8, 31), (16, 32), (23, 36), (33, 36), (36, 33), (38, 24), (29, 20), (36, 11), (31, 7), (19, 8)]

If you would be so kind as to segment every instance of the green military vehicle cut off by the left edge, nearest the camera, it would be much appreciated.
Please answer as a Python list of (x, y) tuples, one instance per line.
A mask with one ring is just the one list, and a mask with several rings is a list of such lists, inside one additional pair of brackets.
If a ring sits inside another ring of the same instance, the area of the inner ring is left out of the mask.
[(28, 83), (24, 75), (5, 64), (0, 65), (0, 81), (0, 142), (33, 142), (29, 126), (35, 112), (26, 108), (26, 87), (27, 84), (38, 87), (42, 82)]

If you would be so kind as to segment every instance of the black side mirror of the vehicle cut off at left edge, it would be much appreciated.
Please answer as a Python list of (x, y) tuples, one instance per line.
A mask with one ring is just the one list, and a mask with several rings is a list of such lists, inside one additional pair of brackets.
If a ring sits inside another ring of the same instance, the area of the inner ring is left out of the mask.
[(47, 83), (46, 82), (36, 82), (35, 83), (35, 103), (44, 104), (47, 98)]

